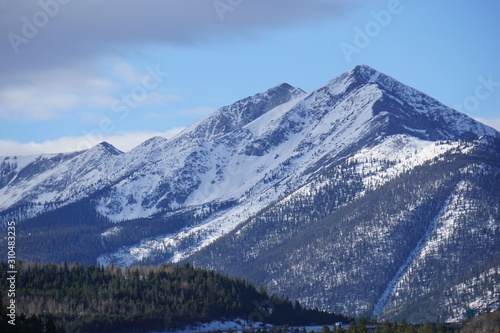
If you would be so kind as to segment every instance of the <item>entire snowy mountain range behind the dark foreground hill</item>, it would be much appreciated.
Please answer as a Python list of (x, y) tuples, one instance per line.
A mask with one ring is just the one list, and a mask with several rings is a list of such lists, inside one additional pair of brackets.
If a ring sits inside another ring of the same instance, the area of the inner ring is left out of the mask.
[(27, 260), (185, 261), (334, 312), (457, 320), (499, 306), (499, 173), (499, 132), (357, 66), (127, 153), (1, 158), (0, 223)]

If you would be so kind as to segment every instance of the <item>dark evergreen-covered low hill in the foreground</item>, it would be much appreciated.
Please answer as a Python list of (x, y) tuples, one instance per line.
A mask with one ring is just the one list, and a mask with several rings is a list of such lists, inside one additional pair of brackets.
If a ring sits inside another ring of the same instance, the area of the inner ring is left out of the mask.
[[(0, 271), (0, 288), (8, 290), (7, 265), (0, 264)], [(223, 319), (293, 325), (349, 320), (189, 265), (122, 270), (25, 263), (18, 267), (15, 301), (16, 327), (4, 321), (2, 332), (147, 332)]]

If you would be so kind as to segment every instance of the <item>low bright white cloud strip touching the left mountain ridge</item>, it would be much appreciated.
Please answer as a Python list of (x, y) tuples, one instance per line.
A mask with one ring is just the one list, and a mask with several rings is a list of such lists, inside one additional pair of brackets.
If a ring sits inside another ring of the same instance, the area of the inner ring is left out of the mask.
[(45, 142), (20, 143), (10, 140), (0, 140), (0, 156), (68, 153), (89, 149), (102, 141), (106, 141), (121, 151), (126, 152), (154, 136), (162, 136), (168, 139), (180, 133), (183, 129), (183, 127), (178, 127), (166, 132), (137, 131), (118, 132), (109, 136), (86, 135), (79, 137), (64, 137)]

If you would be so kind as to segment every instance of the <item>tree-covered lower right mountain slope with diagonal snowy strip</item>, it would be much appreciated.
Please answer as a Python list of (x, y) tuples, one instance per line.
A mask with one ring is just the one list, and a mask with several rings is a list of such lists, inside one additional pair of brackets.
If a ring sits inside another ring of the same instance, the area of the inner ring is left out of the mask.
[(361, 175), (391, 168), (383, 155), (354, 156), (189, 261), (353, 315), (457, 320), (498, 307), (499, 148), (457, 146), (346, 204)]

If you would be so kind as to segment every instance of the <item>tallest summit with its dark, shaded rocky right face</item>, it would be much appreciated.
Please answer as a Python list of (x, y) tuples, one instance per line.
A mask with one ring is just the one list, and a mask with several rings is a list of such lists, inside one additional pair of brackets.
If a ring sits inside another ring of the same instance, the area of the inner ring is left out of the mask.
[[(494, 129), (367, 65), (344, 72), (307, 98), (311, 110), (323, 110), (315, 112), (320, 117), (337, 109), (342, 110), (344, 119), (356, 117), (369, 121), (371, 128), (377, 128), (373, 137), (408, 134), (437, 141), (499, 135)], [(345, 106), (339, 108), (342, 103)]]

